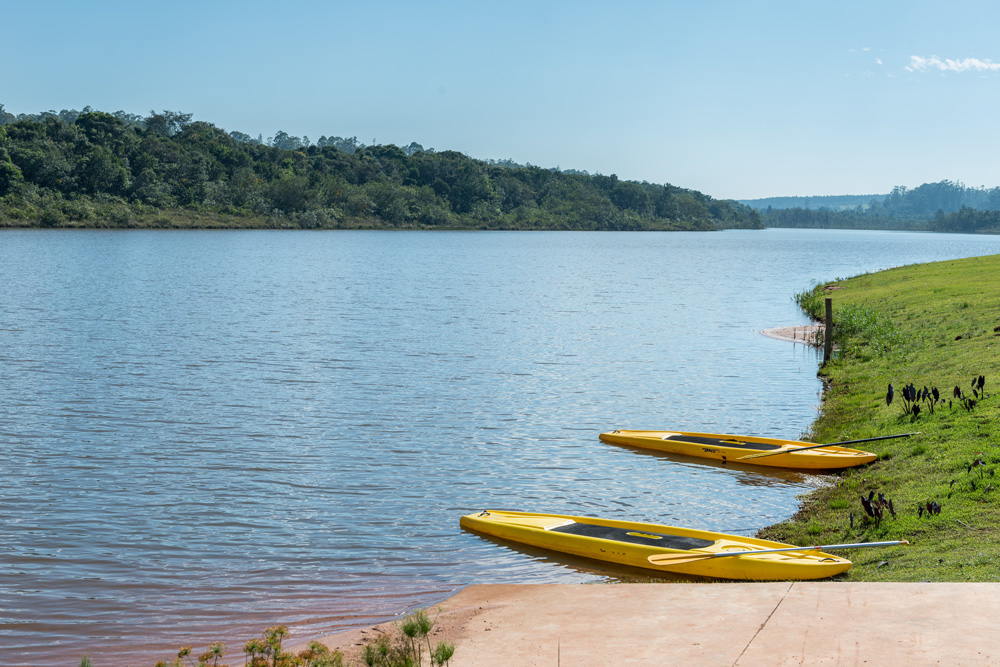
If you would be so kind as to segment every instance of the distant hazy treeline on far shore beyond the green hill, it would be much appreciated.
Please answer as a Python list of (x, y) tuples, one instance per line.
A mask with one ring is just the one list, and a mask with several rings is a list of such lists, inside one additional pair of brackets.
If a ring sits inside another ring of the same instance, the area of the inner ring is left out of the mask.
[(955, 181), (893, 188), (882, 200), (849, 210), (768, 207), (767, 227), (813, 229), (889, 229), (961, 233), (1000, 233), (1000, 187), (969, 188)]

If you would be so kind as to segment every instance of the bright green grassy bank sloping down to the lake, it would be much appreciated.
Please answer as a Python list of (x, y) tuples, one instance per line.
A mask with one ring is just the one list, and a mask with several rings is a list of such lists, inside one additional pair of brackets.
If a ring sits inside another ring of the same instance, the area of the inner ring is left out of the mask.
[[(824, 298), (833, 299), (840, 347), (820, 371), (824, 399), (810, 439), (921, 435), (861, 446), (879, 459), (809, 495), (795, 517), (761, 537), (792, 544), (910, 540), (909, 547), (845, 552), (854, 562), (845, 575), (852, 581), (1000, 580), (998, 284), (1000, 256), (992, 256), (892, 269), (799, 295), (817, 318)], [(973, 386), (979, 376), (982, 392)], [(925, 386), (937, 388), (940, 399), (905, 400), (911, 383), (921, 395)], [(888, 507), (881, 520), (868, 515), (861, 497), (872, 492), (892, 500), (895, 517)], [(940, 513), (928, 512), (928, 503)]]

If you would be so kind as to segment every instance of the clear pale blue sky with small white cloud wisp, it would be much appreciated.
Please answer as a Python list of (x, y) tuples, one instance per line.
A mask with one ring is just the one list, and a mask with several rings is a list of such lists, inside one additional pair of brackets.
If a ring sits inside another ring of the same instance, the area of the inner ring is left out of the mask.
[(0, 103), (719, 198), (1000, 185), (1000, 3), (7, 2)]

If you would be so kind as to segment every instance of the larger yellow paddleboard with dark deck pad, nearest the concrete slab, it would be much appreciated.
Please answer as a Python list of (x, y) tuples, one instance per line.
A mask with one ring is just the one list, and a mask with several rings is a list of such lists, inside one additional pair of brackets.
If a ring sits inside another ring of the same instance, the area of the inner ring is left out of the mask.
[[(851, 567), (851, 561), (817, 551), (817, 547), (793, 547), (752, 537), (655, 523), (486, 510), (463, 516), (461, 524), (463, 528), (484, 535), (583, 558), (718, 579), (822, 579)], [(728, 556), (767, 549), (784, 551)], [(669, 559), (650, 562), (650, 556), (662, 558), (665, 555), (683, 562), (669, 562)]]

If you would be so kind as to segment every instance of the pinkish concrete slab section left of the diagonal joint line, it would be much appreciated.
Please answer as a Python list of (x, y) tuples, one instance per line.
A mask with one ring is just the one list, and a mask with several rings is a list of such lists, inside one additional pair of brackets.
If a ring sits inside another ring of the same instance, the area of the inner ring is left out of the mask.
[[(732, 598), (711, 584), (473, 586), (452, 598), (486, 601), (455, 636), (455, 664), (497, 665), (502, 656), (526, 666), (731, 665), (788, 587), (762, 584)], [(724, 638), (714, 622), (722, 607)]]

